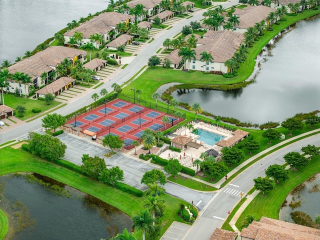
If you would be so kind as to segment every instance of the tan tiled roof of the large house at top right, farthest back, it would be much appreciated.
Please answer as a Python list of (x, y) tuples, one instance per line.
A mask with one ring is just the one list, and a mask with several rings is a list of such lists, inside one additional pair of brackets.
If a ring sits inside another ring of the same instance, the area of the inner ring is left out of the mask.
[[(233, 14), (239, 16), (239, 24), (235, 27), (247, 29), (250, 26), (254, 26), (256, 22), (259, 22), (263, 19), (265, 20), (271, 11), (275, 12), (276, 9), (263, 5), (248, 5), (242, 9), (235, 8)], [(225, 22), (227, 22), (227, 19)]]

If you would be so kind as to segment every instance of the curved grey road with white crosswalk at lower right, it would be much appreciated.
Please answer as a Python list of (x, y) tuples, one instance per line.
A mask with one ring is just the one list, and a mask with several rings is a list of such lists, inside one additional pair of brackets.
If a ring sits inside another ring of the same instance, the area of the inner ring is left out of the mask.
[(204, 208), (198, 220), (192, 225), (190, 231), (183, 239), (196, 239), (199, 232), (201, 232), (201, 239), (209, 239), (214, 229), (221, 227), (228, 215), (227, 212), (239, 201), (239, 192), (247, 192), (252, 187), (254, 178), (264, 176), (264, 168), (266, 169), (269, 165), (275, 163), (283, 164), (283, 156), (287, 152), (301, 152), (301, 147), (307, 144), (320, 146), (320, 134), (304, 138), (267, 155), (243, 171), (232, 182), (222, 187)]

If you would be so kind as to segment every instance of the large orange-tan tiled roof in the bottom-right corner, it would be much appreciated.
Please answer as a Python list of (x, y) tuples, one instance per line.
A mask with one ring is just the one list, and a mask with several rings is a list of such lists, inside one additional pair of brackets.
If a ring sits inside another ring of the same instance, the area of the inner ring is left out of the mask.
[(259, 222), (253, 221), (242, 229), (240, 236), (256, 240), (319, 240), (320, 229), (262, 216)]

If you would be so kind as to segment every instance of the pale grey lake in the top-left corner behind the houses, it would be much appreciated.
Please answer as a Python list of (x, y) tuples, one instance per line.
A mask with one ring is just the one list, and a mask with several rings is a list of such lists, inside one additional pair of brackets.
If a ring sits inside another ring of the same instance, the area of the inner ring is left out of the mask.
[(0, 0), (0, 63), (32, 51), (68, 22), (105, 9), (108, 0)]

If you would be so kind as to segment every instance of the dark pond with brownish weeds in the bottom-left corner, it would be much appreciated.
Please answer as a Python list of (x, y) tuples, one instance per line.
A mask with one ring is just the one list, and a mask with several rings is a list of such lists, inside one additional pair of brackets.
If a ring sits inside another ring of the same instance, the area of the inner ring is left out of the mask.
[[(124, 227), (132, 230), (131, 218), (117, 208), (50, 178), (35, 176), (60, 185), (70, 197), (56, 195), (37, 182), (29, 183), (23, 176), (0, 177), (0, 183), (5, 182), (1, 209), (6, 212), (11, 229), (7, 239), (98, 240), (108, 239)], [(13, 204), (20, 207), (13, 208)], [(18, 230), (16, 212), (23, 216), (20, 222), (29, 226)], [(16, 233), (12, 233), (12, 226)]]

